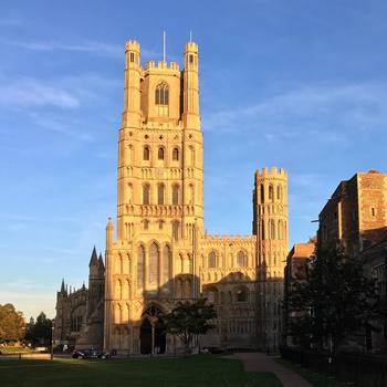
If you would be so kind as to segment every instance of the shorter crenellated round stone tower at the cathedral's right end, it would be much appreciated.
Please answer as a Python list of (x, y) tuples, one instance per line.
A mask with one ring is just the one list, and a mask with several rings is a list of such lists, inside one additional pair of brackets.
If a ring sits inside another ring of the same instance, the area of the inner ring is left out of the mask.
[(258, 344), (262, 348), (278, 348), (283, 271), (289, 249), (287, 174), (284, 169), (263, 168), (255, 172), (253, 213), (258, 262)]

